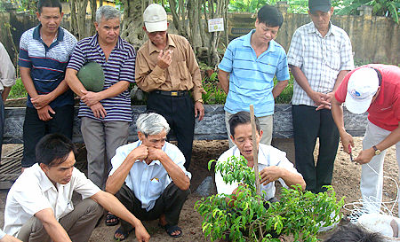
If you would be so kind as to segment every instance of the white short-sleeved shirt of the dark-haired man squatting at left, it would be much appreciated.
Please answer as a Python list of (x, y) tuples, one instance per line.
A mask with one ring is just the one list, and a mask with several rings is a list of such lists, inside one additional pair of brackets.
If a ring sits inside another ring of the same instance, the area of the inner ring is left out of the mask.
[(72, 171), (69, 183), (56, 185), (57, 188), (37, 163), (26, 168), (8, 192), (4, 211), (4, 232), (16, 237), (22, 225), (45, 208), (52, 208), (57, 220), (68, 215), (74, 210), (73, 191), (81, 194), (82, 199), (90, 198), (100, 191), (100, 188), (77, 168)]

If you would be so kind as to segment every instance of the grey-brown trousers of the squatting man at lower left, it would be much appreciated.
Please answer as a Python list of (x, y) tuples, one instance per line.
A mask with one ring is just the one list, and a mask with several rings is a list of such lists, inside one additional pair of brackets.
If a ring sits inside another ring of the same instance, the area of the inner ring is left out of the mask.
[[(84, 199), (71, 213), (60, 218), (59, 222), (73, 242), (87, 242), (101, 215), (103, 215), (103, 207), (92, 199)], [(23, 242), (52, 241), (36, 216), (32, 216), (22, 225), (18, 238)]]

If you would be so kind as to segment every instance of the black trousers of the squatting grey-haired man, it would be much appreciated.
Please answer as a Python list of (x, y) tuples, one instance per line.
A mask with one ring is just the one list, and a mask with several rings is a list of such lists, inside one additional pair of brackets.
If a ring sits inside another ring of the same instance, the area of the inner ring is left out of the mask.
[[(161, 215), (165, 215), (168, 223), (176, 225), (180, 220), (180, 210), (182, 210), (189, 194), (190, 189), (182, 191), (172, 182), (165, 188), (163, 194), (156, 199), (156, 204), (150, 211), (146, 211), (146, 208), (141, 208), (140, 200), (135, 197), (135, 194), (126, 183), (116, 192), (116, 198), (140, 221), (156, 220)], [(124, 220), (121, 220), (121, 226), (125, 231), (132, 229), (132, 225)]]

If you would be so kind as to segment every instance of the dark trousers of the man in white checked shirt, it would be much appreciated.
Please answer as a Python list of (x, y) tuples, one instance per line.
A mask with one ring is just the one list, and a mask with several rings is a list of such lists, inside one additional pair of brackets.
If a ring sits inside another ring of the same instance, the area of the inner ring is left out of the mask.
[[(306, 190), (326, 191), (332, 182), (333, 163), (339, 146), (339, 131), (331, 110), (316, 111), (315, 106), (292, 105), (295, 163), (307, 183)], [(319, 137), (318, 159), (314, 160), (316, 137)]]

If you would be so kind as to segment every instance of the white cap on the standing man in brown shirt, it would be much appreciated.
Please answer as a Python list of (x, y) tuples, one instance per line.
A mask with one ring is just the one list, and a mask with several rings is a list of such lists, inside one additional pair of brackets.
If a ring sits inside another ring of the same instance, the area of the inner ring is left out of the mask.
[(143, 22), (148, 32), (167, 30), (168, 22), (164, 7), (159, 4), (149, 4), (143, 12)]

